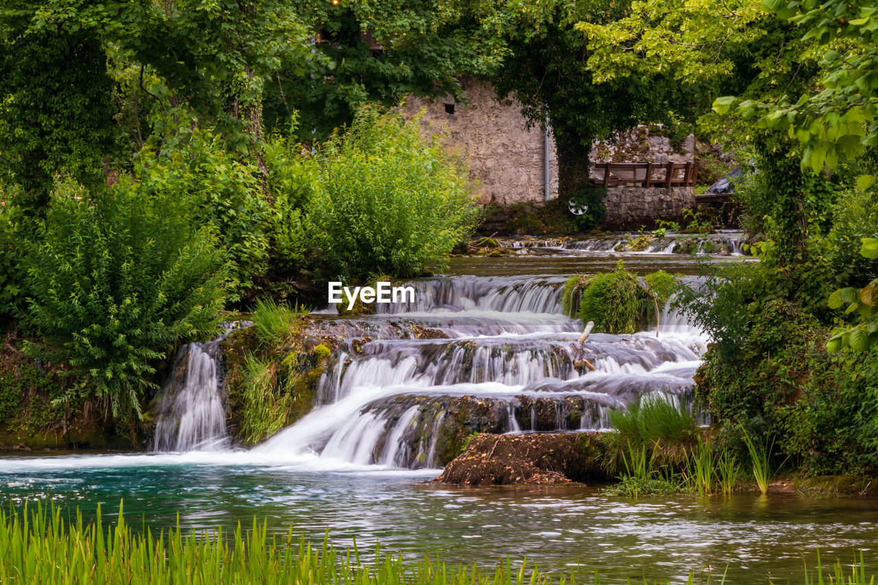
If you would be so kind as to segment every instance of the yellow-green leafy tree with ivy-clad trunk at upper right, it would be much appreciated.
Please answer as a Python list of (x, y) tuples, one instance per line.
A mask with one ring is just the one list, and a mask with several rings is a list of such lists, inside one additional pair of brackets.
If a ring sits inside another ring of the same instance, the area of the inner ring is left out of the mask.
[[(606, 25), (579, 23), (592, 54), (589, 68), (601, 81), (631, 79), (664, 71), (675, 85), (668, 100), (674, 119), (684, 120), (726, 146), (749, 151), (763, 191), (772, 197), (751, 213), (751, 226), (766, 228), (781, 264), (804, 254), (810, 189), (820, 189), (798, 170), (801, 152), (777, 133), (754, 128), (746, 119), (729, 119), (713, 111), (714, 100), (735, 93), (750, 100), (807, 95), (817, 74), (817, 54), (795, 29), (759, 4), (759, 0), (631, 4), (625, 18)], [(722, 101), (722, 98), (720, 98)], [(752, 212), (753, 210), (747, 210)], [(759, 215), (758, 218), (754, 217)]]

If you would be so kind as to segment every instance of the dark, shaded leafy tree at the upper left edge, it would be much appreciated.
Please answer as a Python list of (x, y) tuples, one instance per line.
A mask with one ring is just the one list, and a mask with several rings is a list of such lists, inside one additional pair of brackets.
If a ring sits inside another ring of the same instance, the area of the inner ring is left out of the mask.
[(83, 31), (0, 39), (0, 173), (25, 213), (47, 205), (56, 172), (99, 184), (115, 134), (106, 57)]

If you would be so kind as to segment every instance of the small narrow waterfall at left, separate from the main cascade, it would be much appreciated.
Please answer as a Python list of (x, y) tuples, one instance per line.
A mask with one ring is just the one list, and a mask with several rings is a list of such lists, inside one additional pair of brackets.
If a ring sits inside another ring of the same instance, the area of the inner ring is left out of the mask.
[(159, 399), (155, 451), (206, 451), (229, 445), (216, 358), (221, 339), (189, 343), (177, 353)]

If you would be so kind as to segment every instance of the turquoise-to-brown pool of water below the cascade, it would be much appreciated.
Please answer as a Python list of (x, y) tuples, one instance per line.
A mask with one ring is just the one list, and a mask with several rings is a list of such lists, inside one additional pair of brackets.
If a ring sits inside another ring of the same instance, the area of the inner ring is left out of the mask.
[[(878, 570), (878, 502), (736, 495), (605, 497), (597, 487), (451, 488), (436, 470), (390, 470), (326, 459), (256, 459), (250, 452), (182, 455), (0, 455), (0, 496), (54, 499), (131, 524), (270, 528), (337, 545), (491, 566), (509, 555), (543, 569), (577, 563), (603, 581), (683, 579), (711, 567), (728, 583), (801, 581), (813, 566), (864, 552)], [(726, 567), (728, 566), (728, 569)]]

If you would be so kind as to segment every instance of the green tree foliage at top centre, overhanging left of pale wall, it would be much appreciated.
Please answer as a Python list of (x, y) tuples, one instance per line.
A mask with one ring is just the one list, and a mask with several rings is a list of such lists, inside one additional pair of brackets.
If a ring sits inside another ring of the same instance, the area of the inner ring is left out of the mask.
[(399, 105), (408, 95), (461, 96), (459, 76), (486, 72), (495, 43), (479, 22), (443, 2), (297, 0), (313, 34), (313, 56), (284, 60), (267, 84), (267, 126), (299, 115), (299, 139), (321, 141), (368, 104)]

